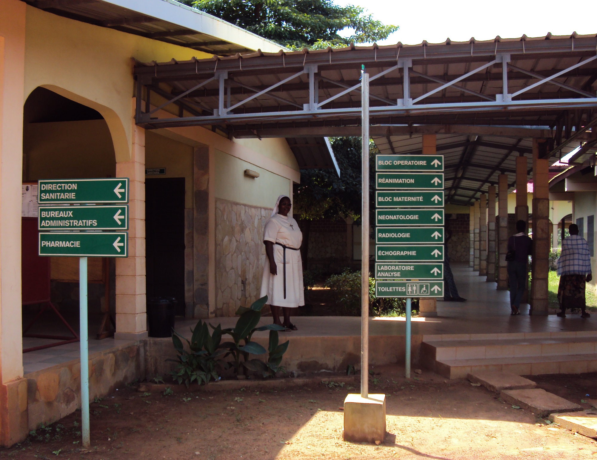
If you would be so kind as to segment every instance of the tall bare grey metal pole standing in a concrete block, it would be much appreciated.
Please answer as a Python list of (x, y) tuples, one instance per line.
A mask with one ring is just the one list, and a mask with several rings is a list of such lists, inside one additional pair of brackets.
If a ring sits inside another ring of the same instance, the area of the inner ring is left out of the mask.
[(369, 396), (369, 74), (361, 70), (361, 397)]

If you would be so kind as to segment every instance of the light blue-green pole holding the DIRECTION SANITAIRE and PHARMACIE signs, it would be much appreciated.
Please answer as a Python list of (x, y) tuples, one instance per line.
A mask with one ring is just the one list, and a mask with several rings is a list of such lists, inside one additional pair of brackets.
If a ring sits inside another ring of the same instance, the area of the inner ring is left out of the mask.
[(79, 257), (79, 336), (81, 337), (81, 431), (89, 447), (89, 350), (87, 326), (87, 257)]

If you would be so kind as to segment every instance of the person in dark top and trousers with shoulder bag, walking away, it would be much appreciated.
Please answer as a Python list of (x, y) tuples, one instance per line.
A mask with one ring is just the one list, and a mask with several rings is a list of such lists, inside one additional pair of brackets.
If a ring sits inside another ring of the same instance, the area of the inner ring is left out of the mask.
[(508, 284), (510, 285), (511, 315), (519, 315), (522, 295), (528, 283), (528, 256), (531, 255), (533, 240), (527, 235), (527, 223), (516, 222), (516, 235), (508, 240), (508, 252), (514, 252), (514, 260), (508, 260)]

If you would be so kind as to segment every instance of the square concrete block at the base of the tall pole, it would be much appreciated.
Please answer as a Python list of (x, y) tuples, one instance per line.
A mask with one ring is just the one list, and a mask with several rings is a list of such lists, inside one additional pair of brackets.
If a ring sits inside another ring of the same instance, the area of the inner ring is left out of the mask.
[(349, 394), (344, 399), (344, 440), (381, 443), (386, 436), (386, 395)]

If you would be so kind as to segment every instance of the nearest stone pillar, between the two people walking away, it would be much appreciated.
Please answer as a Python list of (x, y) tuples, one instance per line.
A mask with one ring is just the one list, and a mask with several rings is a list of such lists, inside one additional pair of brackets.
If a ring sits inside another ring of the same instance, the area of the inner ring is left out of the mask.
[(533, 139), (533, 273), (531, 315), (547, 315), (549, 275), (549, 160), (538, 158), (539, 140)]

